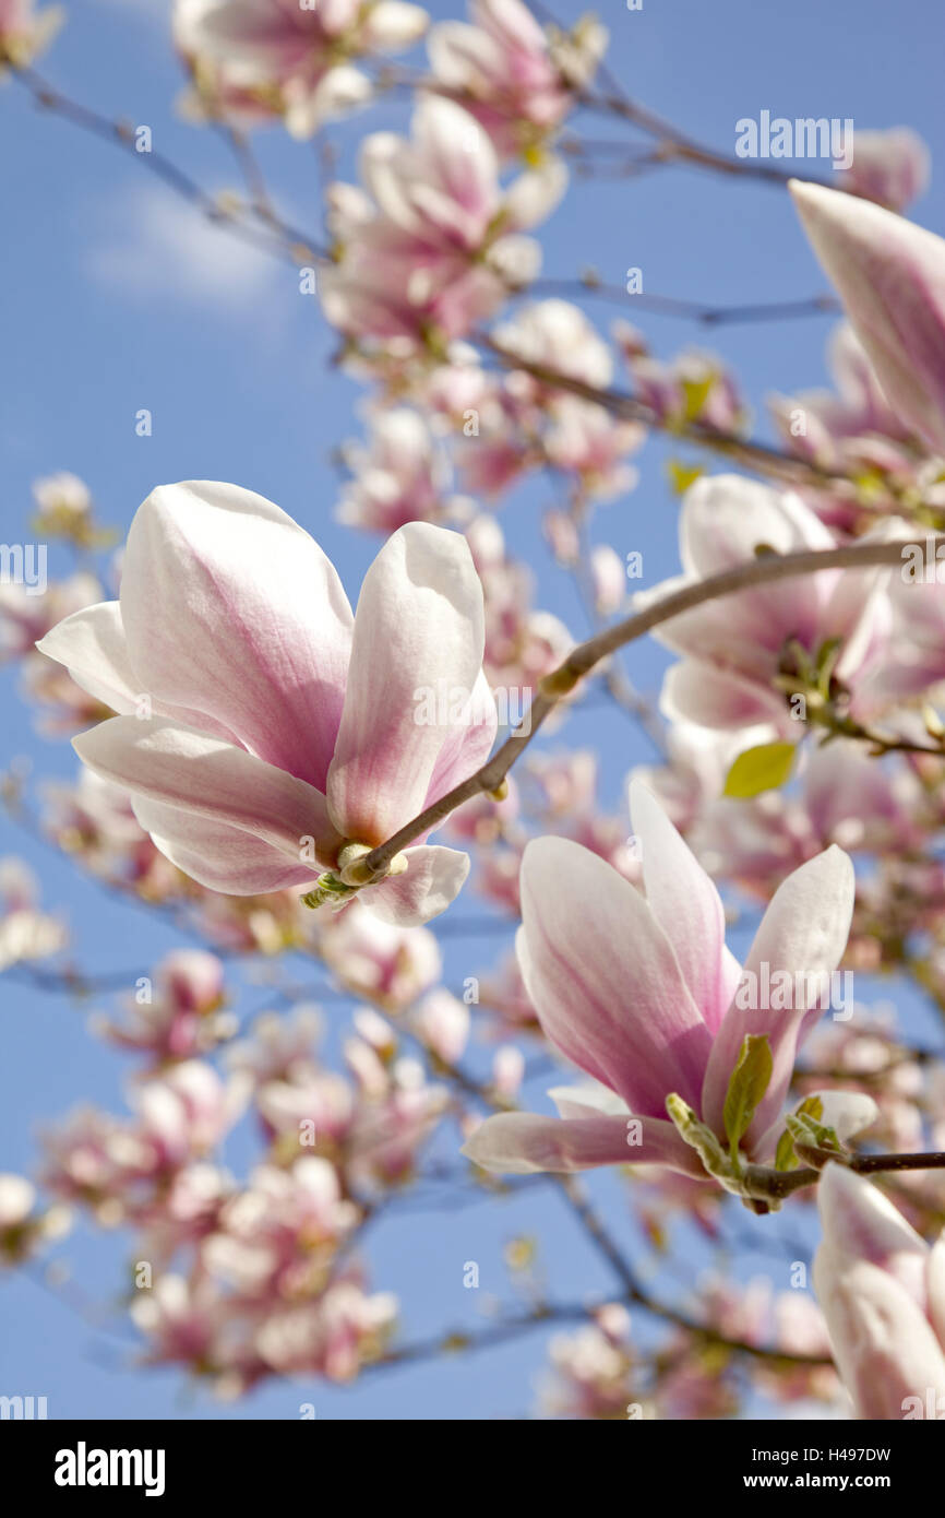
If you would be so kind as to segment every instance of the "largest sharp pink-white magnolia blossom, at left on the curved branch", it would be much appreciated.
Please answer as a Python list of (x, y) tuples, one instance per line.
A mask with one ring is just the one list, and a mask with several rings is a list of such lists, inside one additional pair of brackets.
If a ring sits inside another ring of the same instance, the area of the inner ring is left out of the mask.
[[(135, 515), (120, 600), (39, 647), (121, 713), (74, 739), (79, 757), (130, 792), (181, 870), (253, 896), (344, 868), (347, 846), (381, 844), (484, 762), (496, 712), (482, 645), (482, 589), (458, 534), (394, 533), (355, 618), (331, 562), (278, 505), (190, 483)], [(416, 692), (441, 688), (469, 694), (463, 712), (438, 703), (417, 721)], [(419, 841), (364, 902), (425, 921), (467, 870), (466, 855)]]

